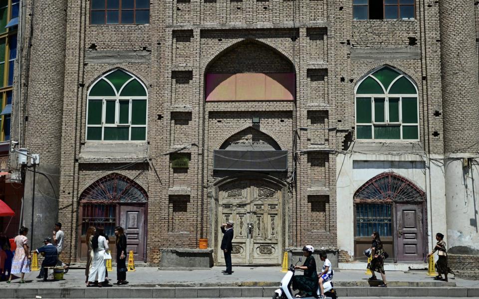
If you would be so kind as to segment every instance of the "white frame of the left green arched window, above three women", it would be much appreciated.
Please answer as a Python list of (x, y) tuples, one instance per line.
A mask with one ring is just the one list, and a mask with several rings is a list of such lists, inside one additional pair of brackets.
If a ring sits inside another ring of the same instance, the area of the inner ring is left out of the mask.
[[(148, 139), (148, 89), (146, 88), (145, 84), (138, 79), (135, 75), (131, 74), (130, 72), (121, 69), (121, 71), (127, 73), (128, 75), (132, 76), (132, 78), (128, 79), (123, 86), (120, 88), (119, 91), (116, 90), (115, 86), (106, 78), (109, 74), (113, 73), (118, 69), (114, 69), (112, 71), (109, 71), (108, 73), (104, 74), (90, 86), (88, 90), (88, 95), (87, 95), (87, 101), (86, 101), (86, 121), (85, 121), (85, 141), (86, 142), (145, 142)], [(101, 97), (101, 96), (90, 96), (90, 91), (91, 89), (97, 84), (100, 80), (104, 79), (113, 89), (115, 92), (116, 96), (108, 96), (108, 97)], [(142, 97), (131, 97), (131, 96), (119, 96), (121, 92), (123, 91), (123, 88), (128, 85), (133, 80), (137, 80), (140, 82), (142, 87), (145, 89), (146, 96)], [(88, 109), (89, 109), (89, 101), (90, 100), (101, 100), (102, 101), (102, 115), (101, 115), (101, 124), (100, 125), (88, 125)], [(120, 101), (122, 100), (128, 100), (128, 123), (120, 124)], [(145, 125), (132, 125), (131, 124), (131, 119), (132, 119), (132, 108), (133, 108), (133, 101), (135, 100), (146, 100), (146, 111), (145, 111), (145, 118), (146, 118), (146, 124)], [(115, 122), (114, 124), (106, 124), (106, 102), (107, 101), (115, 101)], [(87, 134), (88, 134), (88, 128), (89, 127), (101, 127), (101, 140), (88, 140)], [(128, 140), (104, 140), (105, 138), (105, 130), (104, 128), (128, 128)], [(145, 128), (145, 140), (131, 140), (131, 128)]]

